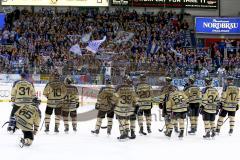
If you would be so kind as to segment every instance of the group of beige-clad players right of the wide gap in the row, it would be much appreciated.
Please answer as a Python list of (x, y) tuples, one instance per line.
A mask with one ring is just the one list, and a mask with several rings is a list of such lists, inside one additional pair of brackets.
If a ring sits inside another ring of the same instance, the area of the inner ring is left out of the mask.
[[(156, 98), (153, 97), (152, 87), (146, 83), (144, 75), (140, 77), (140, 83), (136, 86), (133, 86), (128, 76), (124, 78), (124, 84), (116, 88), (111, 86), (111, 81), (107, 81), (106, 87), (101, 88), (97, 97), (98, 115), (95, 130), (92, 133), (99, 134), (102, 120), (107, 116), (107, 133), (111, 134), (114, 114), (119, 121), (120, 137), (118, 139), (136, 138), (136, 120), (140, 127), (139, 133), (146, 135), (143, 129), (143, 115), (146, 118), (147, 131), (151, 133), (153, 102), (159, 103), (159, 107), (162, 109), (166, 128), (164, 133), (167, 137), (171, 137), (173, 128), (179, 132), (178, 126), (180, 128), (178, 137), (184, 136), (184, 121), (187, 116), (191, 122), (191, 130), (188, 133), (195, 134), (199, 113), (202, 114), (206, 132), (203, 138), (219, 134), (227, 114), (230, 121), (229, 134), (233, 133), (234, 117), (240, 100), (239, 89), (233, 85), (233, 77), (227, 78), (227, 85), (223, 88), (221, 97), (217, 89), (211, 86), (212, 79), (209, 77), (205, 79), (206, 87), (202, 91), (194, 85), (194, 76), (190, 76), (183, 91), (171, 84), (170, 77), (166, 77), (166, 82), (167, 84), (160, 91), (160, 96)], [(218, 113), (219, 119), (216, 127), (215, 117)]]

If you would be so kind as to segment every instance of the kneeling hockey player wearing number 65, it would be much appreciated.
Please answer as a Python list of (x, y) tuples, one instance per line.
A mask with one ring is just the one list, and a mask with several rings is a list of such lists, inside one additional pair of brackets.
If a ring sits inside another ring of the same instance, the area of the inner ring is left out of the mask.
[(34, 135), (37, 134), (39, 123), (41, 121), (41, 111), (38, 106), (41, 101), (35, 97), (32, 104), (22, 105), (15, 113), (16, 127), (23, 132), (23, 138), (20, 140), (20, 147), (30, 146)]

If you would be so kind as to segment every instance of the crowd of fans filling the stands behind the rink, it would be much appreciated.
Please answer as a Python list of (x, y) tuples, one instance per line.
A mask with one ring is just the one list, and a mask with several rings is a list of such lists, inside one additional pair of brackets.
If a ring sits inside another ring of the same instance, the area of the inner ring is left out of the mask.
[[(108, 9), (101, 13), (94, 9), (64, 13), (16, 10), (7, 15), (0, 32), (0, 72), (48, 74), (56, 68), (61, 74), (105, 74), (110, 66), (113, 76), (145, 71), (152, 76), (194, 73), (202, 78), (220, 73), (217, 71), (222, 66), (224, 74), (239, 76), (240, 42), (227, 54), (224, 48), (231, 48), (233, 43), (229, 40), (210, 49), (191, 48), (186, 39), (188, 29), (184, 16), (171, 11), (153, 15)], [(134, 36), (128, 42), (115, 43), (120, 31)], [(107, 36), (97, 54), (85, 50), (87, 43), (79, 38), (89, 33), (90, 40)], [(69, 52), (76, 43), (82, 55)], [(101, 58), (103, 54), (106, 59)]]

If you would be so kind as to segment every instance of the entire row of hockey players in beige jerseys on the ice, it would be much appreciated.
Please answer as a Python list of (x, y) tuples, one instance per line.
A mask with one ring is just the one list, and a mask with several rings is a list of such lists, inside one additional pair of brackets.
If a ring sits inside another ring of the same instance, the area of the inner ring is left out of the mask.
[[(204, 138), (214, 137), (220, 132), (224, 117), (228, 114), (230, 120), (229, 133), (232, 134), (234, 127), (235, 112), (238, 110), (240, 93), (238, 87), (233, 85), (233, 78), (227, 79), (227, 86), (224, 87), (220, 98), (218, 91), (211, 86), (212, 80), (206, 78), (206, 87), (201, 90), (194, 85), (195, 78), (191, 76), (189, 83), (183, 91), (171, 85), (172, 79), (166, 78), (167, 85), (161, 89), (161, 94), (156, 100), (153, 97), (152, 87), (146, 83), (146, 77), (140, 77), (140, 83), (133, 86), (129, 76), (124, 78), (124, 84), (113, 88), (111, 81), (107, 81), (97, 97), (96, 109), (98, 110), (96, 128), (92, 133), (99, 134), (102, 119), (107, 115), (107, 132), (111, 134), (114, 114), (119, 121), (119, 139), (135, 139), (135, 123), (138, 120), (139, 133), (146, 135), (143, 128), (143, 115), (146, 117), (147, 132), (151, 133), (151, 109), (153, 102), (158, 102), (165, 119), (165, 135), (171, 137), (172, 130), (177, 130), (179, 124), (179, 137), (184, 135), (184, 119), (189, 115), (191, 130), (189, 134), (197, 131), (199, 113), (203, 115), (206, 134)], [(57, 72), (54, 72), (44, 88), (43, 94), (47, 97), (45, 111), (45, 132), (49, 132), (50, 117), (55, 113), (54, 132), (59, 132), (61, 116), (64, 120), (65, 132), (69, 131), (68, 117), (72, 119), (72, 127), (77, 131), (77, 108), (79, 107), (79, 94), (71, 77), (64, 82), (60, 80)], [(23, 145), (31, 145), (34, 135), (39, 129), (41, 113), (38, 109), (40, 101), (35, 98), (33, 84), (26, 80), (26, 74), (21, 74), (21, 80), (14, 83), (11, 97), (13, 109), (10, 116), (8, 130), (21, 129), (24, 138)], [(217, 127), (215, 128), (215, 116), (219, 113)], [(175, 127), (174, 127), (175, 126)], [(130, 133), (130, 136), (129, 136)]]

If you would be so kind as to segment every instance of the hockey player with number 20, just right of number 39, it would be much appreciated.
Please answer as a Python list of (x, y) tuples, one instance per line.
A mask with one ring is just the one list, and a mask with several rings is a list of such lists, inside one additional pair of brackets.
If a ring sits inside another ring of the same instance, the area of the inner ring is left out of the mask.
[(151, 109), (152, 109), (152, 87), (146, 83), (146, 76), (140, 76), (140, 83), (136, 86), (136, 93), (138, 95), (138, 124), (140, 127), (140, 134), (146, 135), (143, 130), (143, 114), (146, 117), (147, 121), (147, 131), (151, 133)]

